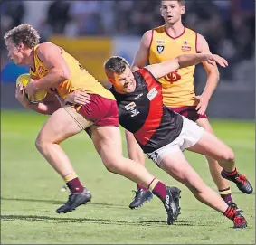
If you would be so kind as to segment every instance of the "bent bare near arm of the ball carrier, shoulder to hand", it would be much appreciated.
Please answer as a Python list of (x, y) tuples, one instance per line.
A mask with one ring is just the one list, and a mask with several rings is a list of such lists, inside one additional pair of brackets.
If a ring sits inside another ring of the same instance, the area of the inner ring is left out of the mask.
[(71, 71), (62, 57), (60, 47), (51, 42), (45, 42), (37, 49), (37, 55), (50, 72), (42, 79), (31, 82), (25, 91), (33, 96), (38, 90), (47, 90), (70, 79)]

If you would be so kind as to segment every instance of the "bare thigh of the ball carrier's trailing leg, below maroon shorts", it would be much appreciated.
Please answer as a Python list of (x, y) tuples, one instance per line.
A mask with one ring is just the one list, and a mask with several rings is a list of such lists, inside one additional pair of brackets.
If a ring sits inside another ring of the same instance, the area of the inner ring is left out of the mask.
[(91, 139), (104, 164), (113, 163), (122, 156), (122, 138), (119, 127), (91, 126)]

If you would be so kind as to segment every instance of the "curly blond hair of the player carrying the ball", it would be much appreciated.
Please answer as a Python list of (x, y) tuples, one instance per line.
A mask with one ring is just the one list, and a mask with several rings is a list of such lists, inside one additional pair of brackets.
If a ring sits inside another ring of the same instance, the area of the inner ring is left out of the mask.
[(5, 44), (11, 41), (15, 46), (24, 43), (28, 48), (33, 49), (40, 40), (39, 33), (30, 24), (20, 24), (5, 33)]

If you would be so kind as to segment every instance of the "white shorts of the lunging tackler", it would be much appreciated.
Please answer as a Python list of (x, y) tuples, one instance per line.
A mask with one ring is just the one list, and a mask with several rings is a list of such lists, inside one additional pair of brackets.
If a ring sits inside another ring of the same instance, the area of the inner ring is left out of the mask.
[(154, 152), (147, 153), (147, 156), (159, 166), (165, 155), (176, 151), (184, 151), (186, 148), (194, 146), (203, 136), (203, 133), (204, 127), (200, 127), (194, 123), (194, 121), (183, 117), (183, 127), (180, 135), (170, 144), (163, 146)]

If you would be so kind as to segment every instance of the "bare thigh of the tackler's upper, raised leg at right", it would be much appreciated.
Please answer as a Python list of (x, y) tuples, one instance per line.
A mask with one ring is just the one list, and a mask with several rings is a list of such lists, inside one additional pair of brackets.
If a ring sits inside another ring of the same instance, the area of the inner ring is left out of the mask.
[(225, 145), (221, 139), (206, 131), (204, 131), (202, 137), (200, 137), (194, 146), (187, 149), (195, 153), (210, 156), (215, 160), (229, 160), (234, 158), (232, 149), (229, 146)]

